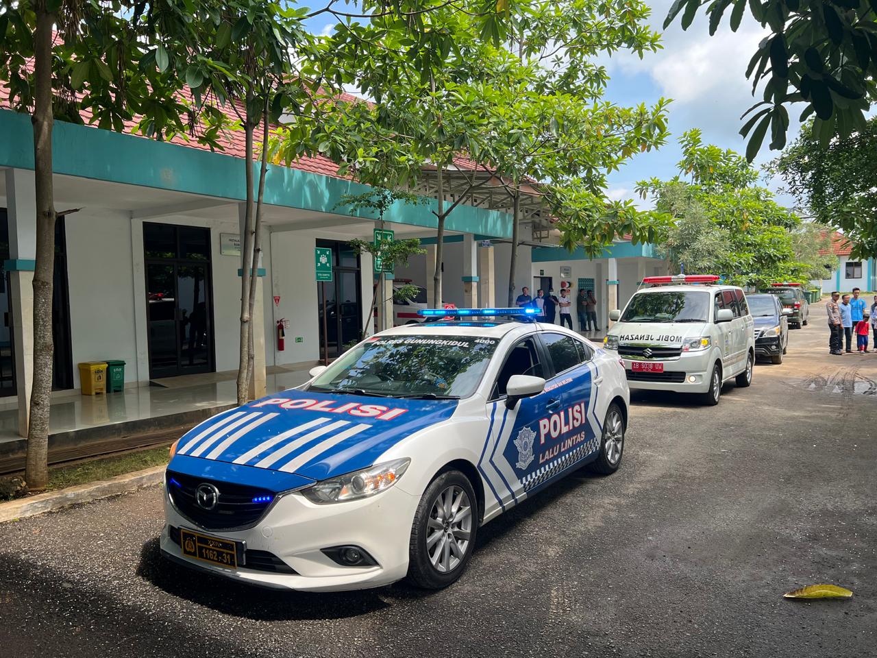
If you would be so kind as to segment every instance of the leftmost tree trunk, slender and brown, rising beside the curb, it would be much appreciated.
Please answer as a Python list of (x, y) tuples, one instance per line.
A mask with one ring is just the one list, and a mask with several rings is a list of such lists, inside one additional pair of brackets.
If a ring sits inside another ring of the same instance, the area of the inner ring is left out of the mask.
[[(52, 285), (55, 210), (52, 184), (52, 26), (55, 17), (36, 3), (33, 35), (33, 161), (37, 254), (33, 270), (33, 384), (27, 427), (25, 480), (32, 491), (48, 484), (49, 401), (52, 395)], [(26, 321), (26, 320), (25, 320)]]

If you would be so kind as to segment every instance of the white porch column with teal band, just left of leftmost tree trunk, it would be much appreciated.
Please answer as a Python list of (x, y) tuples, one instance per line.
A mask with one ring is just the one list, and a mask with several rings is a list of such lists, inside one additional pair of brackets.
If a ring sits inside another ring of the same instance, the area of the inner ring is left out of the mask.
[(33, 172), (7, 169), (6, 205), (9, 218), (9, 295), (12, 303), (12, 344), (18, 392), (18, 433), (27, 436), (33, 384), (33, 267), (37, 254), (37, 204)]

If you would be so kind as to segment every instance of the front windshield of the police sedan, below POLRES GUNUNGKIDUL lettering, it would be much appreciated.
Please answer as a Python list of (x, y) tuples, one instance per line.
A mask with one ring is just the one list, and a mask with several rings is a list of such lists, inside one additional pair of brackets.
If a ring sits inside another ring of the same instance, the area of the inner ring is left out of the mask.
[(341, 354), (309, 389), (381, 397), (469, 397), (498, 343), (479, 336), (378, 336)]

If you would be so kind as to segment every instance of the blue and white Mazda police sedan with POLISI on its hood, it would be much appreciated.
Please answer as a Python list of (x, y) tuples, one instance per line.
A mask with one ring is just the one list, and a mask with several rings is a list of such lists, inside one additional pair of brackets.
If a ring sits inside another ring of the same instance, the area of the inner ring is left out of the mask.
[(438, 589), (480, 526), (585, 464), (618, 468), (616, 354), (536, 309), (422, 312), (178, 440), (162, 553), (280, 589)]

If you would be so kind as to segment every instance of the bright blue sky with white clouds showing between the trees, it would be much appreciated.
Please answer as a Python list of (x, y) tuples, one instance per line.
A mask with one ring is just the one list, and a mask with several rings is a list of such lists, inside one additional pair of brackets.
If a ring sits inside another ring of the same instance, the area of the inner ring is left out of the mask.
[[(652, 0), (649, 22), (655, 30), (660, 32), (672, 1)], [(314, 32), (321, 32), (334, 23), (332, 17), (324, 15), (312, 20), (310, 27)], [(652, 104), (660, 97), (673, 99), (669, 108), (672, 134), (667, 145), (651, 153), (638, 154), (613, 173), (609, 187), (611, 198), (634, 199), (641, 207), (650, 205), (636, 197), (636, 182), (652, 176), (673, 177), (676, 162), (681, 159), (678, 139), (690, 128), (700, 128), (705, 143), (745, 153), (745, 140), (738, 133), (743, 125), (740, 115), (755, 103), (752, 84), (746, 80), (745, 71), (766, 30), (748, 13), (737, 32), (731, 32), (727, 23), (724, 18), (723, 25), (710, 37), (705, 16), (699, 14), (684, 32), (677, 20), (663, 33), (664, 47), (658, 53), (646, 54), (642, 60), (633, 54), (615, 54), (602, 59), (610, 73), (608, 100), (633, 105)], [(788, 141), (791, 142), (799, 129), (800, 110), (789, 114), (792, 125)], [(765, 143), (756, 164), (770, 161), (776, 155)], [(774, 190), (778, 187), (775, 181), (766, 184)], [(778, 197), (778, 201), (787, 205), (794, 202), (784, 195)]]

